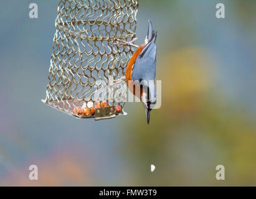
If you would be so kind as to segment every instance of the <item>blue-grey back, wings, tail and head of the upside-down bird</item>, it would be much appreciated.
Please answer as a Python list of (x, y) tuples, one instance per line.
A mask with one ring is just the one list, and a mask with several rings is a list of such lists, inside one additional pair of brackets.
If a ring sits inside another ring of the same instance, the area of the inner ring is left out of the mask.
[(141, 101), (146, 110), (148, 124), (151, 109), (156, 104), (156, 86), (154, 85), (156, 78), (156, 36), (157, 33), (154, 32), (151, 21), (148, 21), (148, 35), (145, 40), (145, 47), (136, 58), (131, 75), (133, 81), (139, 81), (143, 86)]

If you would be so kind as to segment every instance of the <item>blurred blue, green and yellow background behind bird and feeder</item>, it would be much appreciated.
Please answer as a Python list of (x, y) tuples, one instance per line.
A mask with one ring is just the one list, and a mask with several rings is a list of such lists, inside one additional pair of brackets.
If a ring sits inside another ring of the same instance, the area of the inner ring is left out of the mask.
[[(39, 19), (29, 18), (32, 2)], [(151, 19), (162, 80), (148, 127), (140, 103), (97, 122), (43, 104), (59, 0), (2, 1), (0, 185), (256, 185), (256, 1), (222, 0), (225, 19), (218, 2), (140, 0), (136, 44)]]

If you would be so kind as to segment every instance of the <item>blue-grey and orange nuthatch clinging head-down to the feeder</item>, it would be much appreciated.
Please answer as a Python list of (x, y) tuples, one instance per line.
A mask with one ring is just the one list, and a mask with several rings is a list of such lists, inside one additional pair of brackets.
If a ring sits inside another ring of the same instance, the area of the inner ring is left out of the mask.
[(149, 20), (148, 35), (146, 35), (145, 42), (138, 46), (138, 49), (133, 53), (125, 72), (125, 81), (129, 90), (143, 103), (147, 124), (149, 124), (151, 110), (156, 104), (156, 86), (154, 84), (156, 78), (156, 37), (157, 32), (153, 30), (152, 22)]

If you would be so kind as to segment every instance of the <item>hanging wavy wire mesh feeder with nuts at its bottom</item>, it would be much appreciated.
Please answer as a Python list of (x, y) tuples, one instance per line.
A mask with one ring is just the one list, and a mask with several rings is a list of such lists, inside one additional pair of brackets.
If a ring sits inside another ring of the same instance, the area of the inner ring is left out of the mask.
[(125, 75), (134, 49), (115, 42), (135, 39), (137, 12), (138, 0), (60, 0), (42, 101), (77, 118), (126, 114), (126, 91), (108, 84)]

